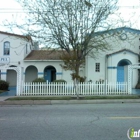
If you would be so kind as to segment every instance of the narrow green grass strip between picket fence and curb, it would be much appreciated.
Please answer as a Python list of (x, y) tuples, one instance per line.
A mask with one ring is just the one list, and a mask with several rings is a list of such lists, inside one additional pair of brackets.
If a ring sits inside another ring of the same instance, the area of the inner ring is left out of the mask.
[[(7, 100), (76, 100), (76, 97), (13, 97)], [(140, 99), (140, 95), (123, 95), (123, 96), (82, 96), (79, 100), (98, 100), (98, 99)]]

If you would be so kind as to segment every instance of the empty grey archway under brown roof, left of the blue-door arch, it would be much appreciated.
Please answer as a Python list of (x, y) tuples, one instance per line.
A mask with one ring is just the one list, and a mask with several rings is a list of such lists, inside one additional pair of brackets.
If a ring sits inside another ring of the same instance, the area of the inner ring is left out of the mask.
[(38, 77), (38, 70), (35, 66), (28, 66), (25, 71), (25, 82), (32, 82)]

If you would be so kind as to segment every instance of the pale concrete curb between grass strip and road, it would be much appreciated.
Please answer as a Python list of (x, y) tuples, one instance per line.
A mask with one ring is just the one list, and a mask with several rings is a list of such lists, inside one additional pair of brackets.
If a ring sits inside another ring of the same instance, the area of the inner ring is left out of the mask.
[(0, 105), (55, 105), (55, 104), (109, 104), (140, 103), (140, 99), (106, 99), (106, 100), (20, 100), (0, 101)]

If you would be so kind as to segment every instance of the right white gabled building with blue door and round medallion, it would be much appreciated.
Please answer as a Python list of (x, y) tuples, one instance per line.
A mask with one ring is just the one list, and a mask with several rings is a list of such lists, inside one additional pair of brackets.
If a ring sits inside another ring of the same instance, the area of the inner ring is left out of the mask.
[[(131, 28), (117, 28), (114, 30), (98, 32), (97, 36), (105, 36), (110, 47), (106, 52), (100, 52), (98, 58), (93, 60), (87, 57), (87, 80), (109, 82), (127, 81), (127, 66), (137, 64), (140, 52), (140, 30)], [(138, 70), (133, 70), (132, 86), (137, 84)]]

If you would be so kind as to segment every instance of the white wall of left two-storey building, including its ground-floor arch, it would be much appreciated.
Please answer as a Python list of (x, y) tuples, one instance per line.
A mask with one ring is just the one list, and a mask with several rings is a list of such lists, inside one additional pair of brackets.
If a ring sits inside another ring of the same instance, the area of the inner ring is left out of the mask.
[[(4, 42), (10, 42), (10, 54), (4, 55)], [(27, 50), (26, 50), (27, 49)], [(18, 35), (8, 35), (0, 33), (0, 58), (8, 58), (10, 61), (7, 64), (8, 66), (20, 66), (24, 67), (23, 61), (25, 56), (27, 56), (33, 49), (31, 40), (27, 40), (23, 36)], [(1, 70), (1, 79), (7, 80), (10, 83), (10, 86), (15, 86), (17, 81), (16, 72), (10, 70)]]

